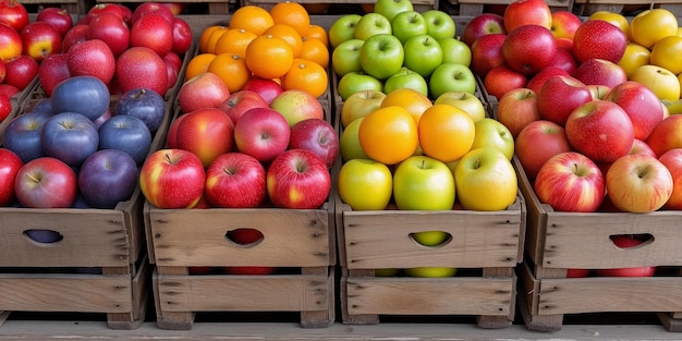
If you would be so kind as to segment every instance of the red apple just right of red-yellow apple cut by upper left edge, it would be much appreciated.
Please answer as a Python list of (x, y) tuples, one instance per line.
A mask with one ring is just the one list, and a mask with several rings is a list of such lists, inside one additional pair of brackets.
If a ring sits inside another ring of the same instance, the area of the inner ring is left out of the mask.
[(51, 53), (62, 50), (62, 35), (52, 25), (46, 22), (33, 22), (21, 32), (22, 49), (24, 54), (31, 56), (38, 62)]

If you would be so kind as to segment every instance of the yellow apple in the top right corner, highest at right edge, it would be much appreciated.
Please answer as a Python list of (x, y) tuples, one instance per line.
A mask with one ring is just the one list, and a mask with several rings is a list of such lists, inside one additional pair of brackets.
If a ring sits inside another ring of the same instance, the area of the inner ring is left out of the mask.
[(646, 10), (632, 19), (630, 34), (632, 41), (651, 48), (658, 40), (678, 34), (678, 19), (667, 9)]

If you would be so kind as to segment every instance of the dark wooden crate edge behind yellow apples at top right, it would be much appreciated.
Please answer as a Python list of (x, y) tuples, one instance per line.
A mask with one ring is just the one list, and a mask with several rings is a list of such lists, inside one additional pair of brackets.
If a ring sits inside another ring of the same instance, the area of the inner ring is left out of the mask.
[(625, 15), (634, 15), (640, 11), (650, 8), (668, 9), (675, 16), (682, 16), (682, 2), (672, 0), (660, 1), (613, 1), (613, 0), (574, 0), (573, 12), (579, 15), (589, 16), (597, 11), (608, 11), (613, 13), (622, 13)]

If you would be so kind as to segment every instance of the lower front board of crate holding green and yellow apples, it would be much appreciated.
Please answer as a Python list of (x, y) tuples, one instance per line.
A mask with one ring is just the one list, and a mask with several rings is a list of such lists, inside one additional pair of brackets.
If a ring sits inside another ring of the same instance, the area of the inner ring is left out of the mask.
[(509, 316), (515, 277), (343, 278), (349, 314)]

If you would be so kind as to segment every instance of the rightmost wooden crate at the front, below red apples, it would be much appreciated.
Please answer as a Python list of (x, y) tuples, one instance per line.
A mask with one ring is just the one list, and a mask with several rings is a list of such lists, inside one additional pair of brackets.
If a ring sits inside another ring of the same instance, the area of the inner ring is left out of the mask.
[[(540, 204), (516, 160), (527, 203), (526, 260), (520, 267), (519, 306), (528, 329), (555, 331), (564, 314), (654, 312), (668, 330), (682, 331), (682, 212), (560, 212)], [(648, 234), (645, 245), (619, 248), (610, 236)], [(568, 268), (668, 267), (666, 276), (567, 278)]]

